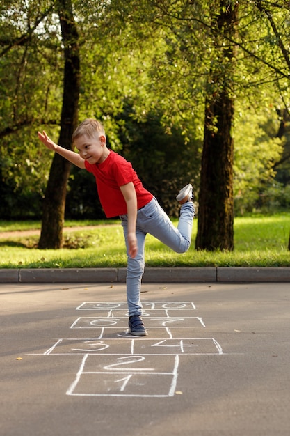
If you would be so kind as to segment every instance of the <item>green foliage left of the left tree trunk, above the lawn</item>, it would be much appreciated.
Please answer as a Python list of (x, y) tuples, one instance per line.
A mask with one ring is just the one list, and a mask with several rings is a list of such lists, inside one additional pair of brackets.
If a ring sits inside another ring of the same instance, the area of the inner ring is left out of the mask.
[(49, 2), (8, 3), (0, 17), (0, 213), (40, 217), (51, 156), (36, 133), (59, 117), (60, 57), (55, 32), (45, 34)]

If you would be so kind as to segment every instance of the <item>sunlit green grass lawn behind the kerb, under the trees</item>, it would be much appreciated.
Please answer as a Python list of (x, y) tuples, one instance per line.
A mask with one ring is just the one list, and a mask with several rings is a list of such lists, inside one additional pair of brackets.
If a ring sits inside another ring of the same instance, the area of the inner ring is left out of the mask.
[[(177, 221), (174, 221), (177, 225)], [(94, 226), (86, 229), (86, 226)], [(74, 226), (83, 229), (74, 231)], [(65, 248), (39, 250), (40, 222), (0, 221), (0, 268), (125, 267), (122, 226), (119, 221), (68, 221), (65, 223)], [(10, 231), (38, 229), (38, 234), (10, 235)], [(176, 254), (147, 235), (146, 266), (209, 267), (250, 266), (289, 267), (290, 213), (237, 217), (234, 220), (234, 251), (195, 251), (197, 221), (193, 226), (191, 249)], [(3, 233), (4, 232), (4, 233)]]

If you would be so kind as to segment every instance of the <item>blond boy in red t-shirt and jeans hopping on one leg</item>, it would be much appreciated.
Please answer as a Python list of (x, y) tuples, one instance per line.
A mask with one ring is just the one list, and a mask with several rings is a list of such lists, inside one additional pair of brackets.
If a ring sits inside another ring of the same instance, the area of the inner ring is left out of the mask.
[(76, 128), (72, 141), (79, 153), (56, 145), (45, 132), (38, 132), (38, 137), (49, 150), (93, 173), (106, 217), (120, 217), (127, 247), (129, 331), (134, 336), (146, 336), (140, 302), (145, 236), (150, 233), (177, 253), (188, 250), (194, 217), (192, 186), (186, 185), (176, 197), (181, 210), (175, 228), (131, 164), (106, 147), (106, 134), (99, 121), (88, 118)]

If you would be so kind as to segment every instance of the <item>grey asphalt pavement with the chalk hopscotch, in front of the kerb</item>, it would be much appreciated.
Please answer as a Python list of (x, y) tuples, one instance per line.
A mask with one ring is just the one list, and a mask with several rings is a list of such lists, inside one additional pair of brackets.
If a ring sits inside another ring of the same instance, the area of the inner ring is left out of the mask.
[(159, 272), (143, 283), (144, 338), (127, 332), (123, 272), (2, 276), (0, 435), (289, 436), (289, 281), (252, 273)]

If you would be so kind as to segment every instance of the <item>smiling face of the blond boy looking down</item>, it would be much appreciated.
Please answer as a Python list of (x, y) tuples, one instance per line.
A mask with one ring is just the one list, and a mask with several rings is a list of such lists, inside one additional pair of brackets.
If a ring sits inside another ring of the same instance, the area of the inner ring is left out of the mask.
[(92, 138), (83, 135), (74, 139), (74, 145), (79, 151), (79, 155), (87, 160), (89, 164), (101, 164), (108, 157), (106, 138), (102, 134)]

